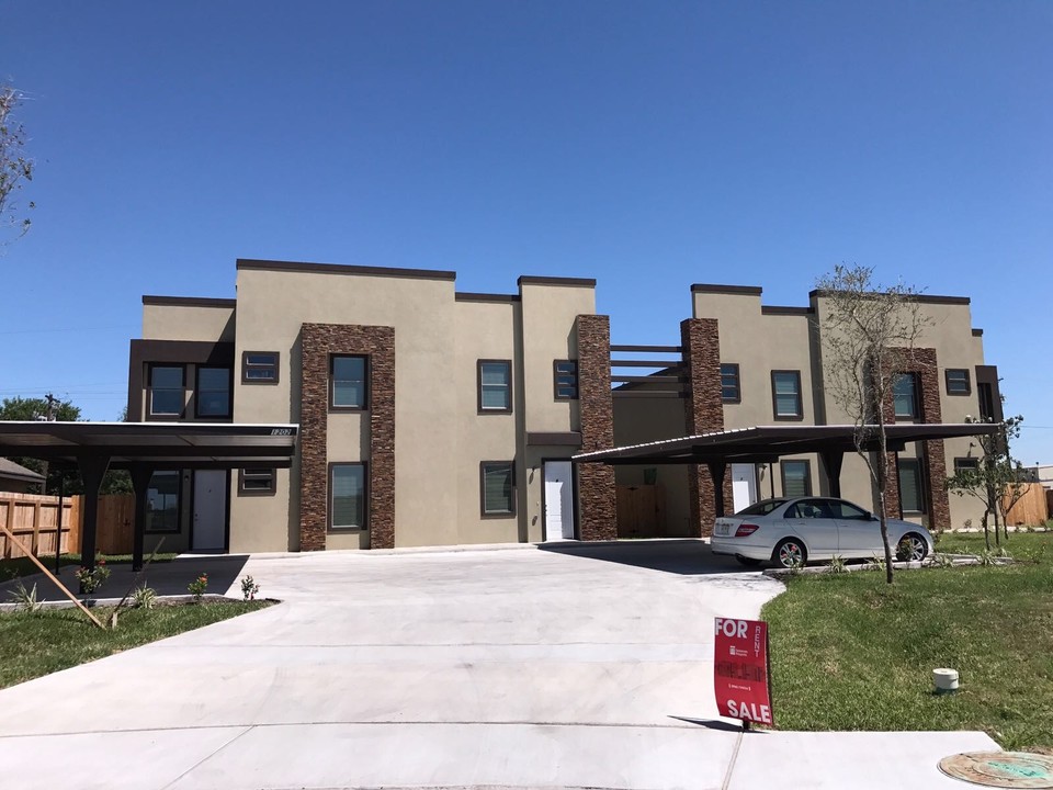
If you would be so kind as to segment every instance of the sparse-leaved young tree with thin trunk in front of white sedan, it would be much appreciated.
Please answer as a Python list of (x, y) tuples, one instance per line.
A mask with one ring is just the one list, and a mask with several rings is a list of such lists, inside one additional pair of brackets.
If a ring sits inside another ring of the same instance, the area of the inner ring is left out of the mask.
[[(893, 386), (907, 365), (915, 343), (931, 325), (918, 301), (920, 291), (902, 282), (883, 286), (874, 270), (838, 266), (816, 281), (824, 300), (823, 386), (856, 427), (856, 451), (865, 462), (878, 492), (878, 518), (885, 550), (885, 579), (892, 584), (893, 549), (888, 544), (885, 492), (894, 470), (885, 426)], [(874, 450), (875, 449), (875, 450)]]

